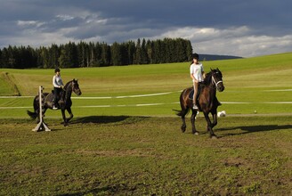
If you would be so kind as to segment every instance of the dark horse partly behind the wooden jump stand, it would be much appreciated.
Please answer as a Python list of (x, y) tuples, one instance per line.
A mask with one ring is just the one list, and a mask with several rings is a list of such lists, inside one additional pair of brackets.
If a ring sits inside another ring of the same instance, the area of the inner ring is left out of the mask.
[[(72, 106), (72, 101), (71, 101), (71, 94), (72, 92), (74, 92), (77, 95), (81, 95), (81, 90), (79, 88), (78, 85), (78, 81), (73, 79), (71, 81), (69, 81), (63, 88), (62, 92), (61, 92), (61, 101), (59, 101), (59, 106), (61, 109), (61, 114), (64, 120), (64, 126), (68, 126), (68, 122), (71, 118), (73, 118), (73, 113), (71, 110), (71, 106)], [(45, 97), (45, 106), (43, 109), (43, 116), (45, 115), (45, 111), (47, 109), (51, 109), (53, 110), (53, 93), (44, 93), (44, 97)], [(37, 123), (39, 122), (39, 96), (37, 95), (34, 99), (34, 110), (35, 112), (31, 112), (28, 110), (28, 115), (33, 118), (36, 119), (37, 118)], [(67, 110), (69, 112), (70, 117), (66, 118), (65, 116), (65, 110)]]

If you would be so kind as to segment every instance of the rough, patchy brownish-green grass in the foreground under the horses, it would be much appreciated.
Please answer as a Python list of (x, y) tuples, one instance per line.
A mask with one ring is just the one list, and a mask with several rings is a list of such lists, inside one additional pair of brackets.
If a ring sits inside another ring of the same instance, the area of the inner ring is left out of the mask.
[[(0, 195), (291, 195), (291, 117), (0, 119)], [(188, 122), (190, 126), (190, 122)]]

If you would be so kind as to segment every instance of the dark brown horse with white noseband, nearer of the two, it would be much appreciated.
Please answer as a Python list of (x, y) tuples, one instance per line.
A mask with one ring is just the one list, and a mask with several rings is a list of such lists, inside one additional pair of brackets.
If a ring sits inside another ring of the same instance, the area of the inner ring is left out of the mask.
[[(224, 90), (223, 86), (223, 75), (219, 69), (211, 69), (209, 73), (207, 73), (206, 78), (202, 84), (199, 86), (200, 93), (198, 98), (198, 107), (199, 111), (204, 113), (204, 116), (207, 120), (207, 131), (210, 133), (211, 138), (217, 138), (213, 132), (213, 127), (217, 125), (217, 107), (221, 105), (216, 98), (216, 90), (222, 92)], [(189, 87), (183, 90), (180, 96), (181, 108), (177, 112), (178, 116), (182, 117), (183, 125), (181, 127), (182, 131), (185, 132), (186, 124), (185, 124), (185, 115), (191, 109), (191, 126), (192, 126), (192, 133), (194, 135), (199, 135), (196, 127), (195, 127), (195, 120), (198, 110), (193, 110), (193, 102), (192, 102), (192, 95), (193, 87)], [(191, 97), (191, 98), (190, 98)], [(209, 118), (209, 113), (211, 112), (213, 116), (213, 123)]]

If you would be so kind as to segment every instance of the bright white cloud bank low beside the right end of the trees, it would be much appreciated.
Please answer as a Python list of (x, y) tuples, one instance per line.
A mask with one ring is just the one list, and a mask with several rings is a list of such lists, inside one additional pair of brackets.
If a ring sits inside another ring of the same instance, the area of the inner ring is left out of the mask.
[(247, 26), (230, 29), (187, 27), (167, 31), (159, 37), (190, 39), (196, 53), (220, 53), (248, 57), (292, 51), (292, 35), (261, 36), (256, 35), (255, 31)]

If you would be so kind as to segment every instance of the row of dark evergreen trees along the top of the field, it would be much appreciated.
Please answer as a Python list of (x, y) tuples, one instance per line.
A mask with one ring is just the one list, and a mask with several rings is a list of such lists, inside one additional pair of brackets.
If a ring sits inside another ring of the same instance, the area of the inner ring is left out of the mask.
[(138, 39), (122, 44), (69, 42), (32, 48), (11, 46), (0, 49), (0, 68), (84, 68), (111, 65), (153, 64), (189, 61), (191, 41), (183, 38)]

